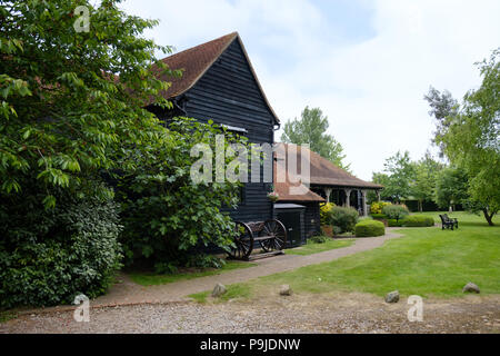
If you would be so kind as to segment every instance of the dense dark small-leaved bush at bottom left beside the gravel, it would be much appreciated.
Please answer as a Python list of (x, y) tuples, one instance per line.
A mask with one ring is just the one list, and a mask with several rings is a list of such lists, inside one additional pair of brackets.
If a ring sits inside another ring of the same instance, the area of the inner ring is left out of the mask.
[(117, 205), (64, 194), (58, 200), (49, 211), (36, 196), (1, 200), (1, 308), (97, 297), (120, 267)]

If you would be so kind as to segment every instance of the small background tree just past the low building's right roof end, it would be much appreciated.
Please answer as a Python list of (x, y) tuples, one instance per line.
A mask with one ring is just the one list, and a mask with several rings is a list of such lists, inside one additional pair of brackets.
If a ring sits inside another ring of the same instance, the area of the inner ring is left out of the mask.
[(400, 202), (411, 196), (416, 168), (410, 160), (410, 154), (398, 151), (386, 159), (384, 174), (373, 174), (373, 181), (383, 185), (382, 198)]

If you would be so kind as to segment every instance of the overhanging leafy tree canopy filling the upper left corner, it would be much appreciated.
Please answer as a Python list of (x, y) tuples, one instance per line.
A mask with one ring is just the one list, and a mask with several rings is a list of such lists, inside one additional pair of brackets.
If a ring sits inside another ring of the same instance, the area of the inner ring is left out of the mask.
[[(157, 62), (170, 52), (141, 34), (157, 21), (127, 16), (118, 0), (7, 0), (0, 4), (0, 191), (40, 187), (46, 208), (53, 189), (112, 196), (99, 172), (136, 168), (136, 151), (157, 147), (164, 128), (143, 109), (168, 83), (146, 70), (179, 75)], [(90, 11), (90, 31), (76, 32), (77, 6)], [(118, 76), (119, 80), (118, 80)]]

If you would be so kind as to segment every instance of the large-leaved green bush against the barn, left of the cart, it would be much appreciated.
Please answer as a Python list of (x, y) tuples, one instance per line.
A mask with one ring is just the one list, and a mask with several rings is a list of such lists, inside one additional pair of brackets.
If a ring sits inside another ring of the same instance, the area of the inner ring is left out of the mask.
[[(126, 263), (147, 263), (158, 271), (172, 266), (193, 265), (190, 255), (200, 255), (203, 247), (228, 249), (232, 244), (233, 222), (226, 210), (239, 201), (240, 184), (191, 180), (190, 169), (198, 157), (191, 157), (197, 144), (214, 151), (214, 137), (222, 128), (194, 119), (176, 118), (169, 126), (169, 142), (157, 152), (158, 161), (137, 156), (138, 171), (121, 175), (117, 198), (122, 205), (124, 230), (121, 241)], [(230, 142), (244, 144), (242, 138), (226, 132)], [(227, 160), (232, 158), (227, 157)], [(214, 165), (210, 177), (214, 177)], [(169, 264), (171, 265), (169, 267)], [(220, 261), (210, 261), (218, 265)]]

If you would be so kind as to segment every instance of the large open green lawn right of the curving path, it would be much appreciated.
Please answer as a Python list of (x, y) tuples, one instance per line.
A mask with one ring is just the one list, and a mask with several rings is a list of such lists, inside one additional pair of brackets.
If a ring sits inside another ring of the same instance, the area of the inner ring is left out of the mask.
[[(458, 230), (401, 229), (402, 238), (380, 248), (229, 286), (228, 293), (238, 297), (242, 290), (242, 297), (251, 297), (258, 290), (289, 284), (296, 293), (343, 290), (383, 296), (398, 289), (402, 296), (452, 297), (462, 296), (462, 287), (473, 281), (481, 294), (500, 294), (500, 218), (490, 227), (482, 217), (449, 215), (459, 219)], [(202, 300), (202, 294), (197, 297)]]

